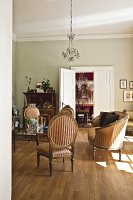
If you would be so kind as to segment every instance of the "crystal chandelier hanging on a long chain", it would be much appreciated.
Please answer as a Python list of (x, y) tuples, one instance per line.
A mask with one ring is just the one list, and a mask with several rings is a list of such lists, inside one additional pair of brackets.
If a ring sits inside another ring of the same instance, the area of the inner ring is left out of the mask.
[(64, 59), (68, 60), (69, 62), (74, 61), (75, 58), (79, 58), (79, 52), (73, 47), (73, 40), (75, 37), (75, 34), (72, 32), (72, 0), (70, 1), (70, 33), (67, 34), (67, 37), (69, 39), (69, 46), (66, 49), (66, 51), (62, 52), (62, 56)]

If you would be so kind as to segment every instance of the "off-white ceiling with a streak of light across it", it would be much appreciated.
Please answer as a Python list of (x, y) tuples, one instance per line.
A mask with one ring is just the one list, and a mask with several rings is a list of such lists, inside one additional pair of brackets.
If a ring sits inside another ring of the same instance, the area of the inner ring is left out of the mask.
[[(70, 0), (13, 0), (13, 33), (18, 40), (66, 39)], [(73, 0), (77, 39), (133, 37), (133, 0)]]

